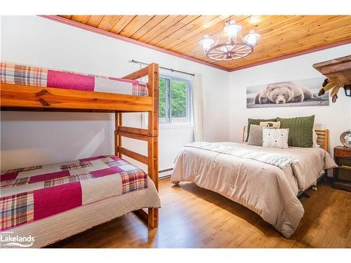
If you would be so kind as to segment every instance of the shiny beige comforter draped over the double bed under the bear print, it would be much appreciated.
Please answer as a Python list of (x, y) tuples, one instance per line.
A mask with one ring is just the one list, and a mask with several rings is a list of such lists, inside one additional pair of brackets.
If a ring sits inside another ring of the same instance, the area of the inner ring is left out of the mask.
[(219, 142), (218, 146), (282, 154), (298, 161), (282, 169), (192, 145), (180, 151), (171, 182), (194, 182), (216, 191), (253, 210), (286, 238), (293, 234), (303, 217), (298, 192), (316, 183), (323, 169), (336, 167), (328, 152), (318, 147), (278, 149), (235, 142)]

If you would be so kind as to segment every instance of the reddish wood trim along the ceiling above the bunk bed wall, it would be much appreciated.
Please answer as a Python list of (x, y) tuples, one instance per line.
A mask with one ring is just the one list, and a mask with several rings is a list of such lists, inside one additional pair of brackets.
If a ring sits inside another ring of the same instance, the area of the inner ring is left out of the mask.
[(206, 65), (208, 67), (215, 67), (216, 69), (221, 69), (221, 70), (224, 70), (225, 72), (230, 72), (230, 69), (227, 69), (225, 67), (220, 67), (218, 65), (214, 65), (214, 64), (211, 64), (211, 63), (208, 63), (206, 61), (203, 61), (203, 60), (198, 60), (197, 58), (192, 58), (192, 57), (189, 57), (187, 55), (183, 55), (183, 54), (180, 54), (180, 53), (176, 53), (176, 52), (173, 52), (171, 50), (166, 50), (164, 48), (159, 48), (157, 46), (152, 46), (148, 43), (144, 43), (144, 42), (141, 42), (141, 41), (138, 41), (138, 40), (135, 40), (135, 39), (130, 39), (126, 36), (121, 36), (119, 34), (114, 34), (114, 33), (111, 33), (111, 32), (107, 32), (105, 30), (102, 30), (102, 29), (99, 29), (99, 28), (96, 28), (96, 27), (91, 27), (90, 25), (85, 25), (85, 24), (82, 24), (82, 23), (79, 23), (79, 22), (76, 22), (76, 21), (73, 21), (73, 20), (69, 20), (67, 18), (62, 18), (58, 15), (38, 15), (39, 17), (41, 18), (47, 18), (47, 19), (50, 19), (50, 20), (54, 20), (56, 22), (61, 22), (63, 24), (66, 24), (66, 25), (71, 25), (72, 27), (78, 27), (80, 29), (84, 29), (84, 30), (87, 30), (87, 31), (90, 31), (90, 32), (94, 32), (94, 33), (97, 33), (97, 34), (102, 34), (104, 36), (109, 36), (109, 37), (112, 37), (113, 39), (119, 39), (121, 41), (126, 41), (128, 43), (133, 43), (135, 45), (138, 45), (138, 46), (143, 46), (144, 48), (150, 48), (150, 49), (153, 49), (153, 50), (157, 50), (159, 52), (162, 52), (162, 53), (166, 53), (168, 55), (174, 55), (178, 58), (183, 58), (185, 60), (190, 60), (192, 62), (197, 62), (199, 64), (202, 64), (202, 65)]

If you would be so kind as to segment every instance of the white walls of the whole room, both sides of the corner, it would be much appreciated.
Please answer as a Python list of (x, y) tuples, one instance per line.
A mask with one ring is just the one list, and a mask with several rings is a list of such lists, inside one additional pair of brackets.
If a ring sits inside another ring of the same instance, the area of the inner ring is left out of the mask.
[[(350, 53), (350, 45), (339, 46), (228, 73), (37, 16), (1, 17), (1, 60), (124, 76), (139, 68), (128, 62), (135, 59), (201, 73), (207, 141), (239, 142), (248, 118), (314, 114), (317, 127), (331, 130), (331, 147), (340, 144), (340, 133), (351, 128), (351, 100), (343, 90), (338, 102), (328, 107), (246, 109), (246, 86), (318, 77), (321, 74), (312, 64)], [(126, 125), (140, 124), (140, 114), (126, 118)], [(112, 114), (1, 112), (1, 170), (112, 154), (113, 130)], [(180, 147), (191, 142), (192, 136), (192, 128), (187, 126), (160, 128), (160, 170), (171, 168)], [(140, 143), (125, 141), (145, 154), (146, 147)]]

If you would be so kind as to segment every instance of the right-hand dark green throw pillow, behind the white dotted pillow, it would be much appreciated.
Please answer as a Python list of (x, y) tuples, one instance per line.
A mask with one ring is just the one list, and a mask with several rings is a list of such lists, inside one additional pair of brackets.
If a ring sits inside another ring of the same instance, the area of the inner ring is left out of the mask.
[(280, 128), (289, 128), (289, 146), (313, 146), (314, 115), (289, 119), (277, 117), (277, 121), (280, 121)]

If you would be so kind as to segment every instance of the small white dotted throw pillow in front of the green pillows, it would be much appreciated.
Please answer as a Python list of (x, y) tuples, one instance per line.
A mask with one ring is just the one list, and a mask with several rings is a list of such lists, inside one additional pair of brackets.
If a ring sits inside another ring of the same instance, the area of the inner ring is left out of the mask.
[(263, 147), (288, 148), (289, 129), (263, 128)]

